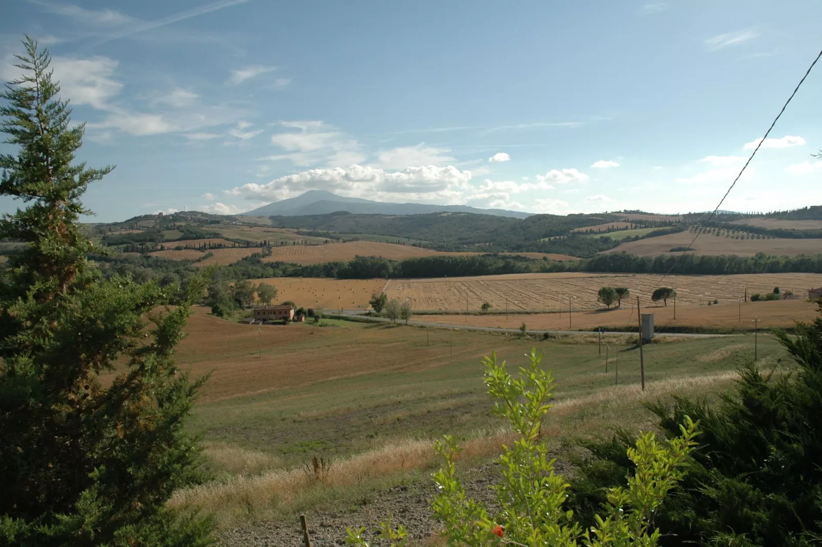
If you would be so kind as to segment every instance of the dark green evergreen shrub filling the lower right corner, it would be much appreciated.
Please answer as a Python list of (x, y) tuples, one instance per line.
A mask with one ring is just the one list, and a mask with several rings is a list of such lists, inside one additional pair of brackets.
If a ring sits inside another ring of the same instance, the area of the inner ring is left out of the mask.
[[(816, 545), (822, 540), (822, 304), (820, 318), (797, 336), (775, 332), (795, 361), (790, 370), (741, 369), (736, 388), (713, 407), (677, 398), (672, 408), (650, 405), (661, 429), (677, 434), (678, 420), (700, 420), (702, 448), (678, 494), (657, 517), (672, 531), (665, 545)], [(588, 448), (571, 507), (590, 516), (601, 489), (621, 484), (631, 469), (618, 432)]]

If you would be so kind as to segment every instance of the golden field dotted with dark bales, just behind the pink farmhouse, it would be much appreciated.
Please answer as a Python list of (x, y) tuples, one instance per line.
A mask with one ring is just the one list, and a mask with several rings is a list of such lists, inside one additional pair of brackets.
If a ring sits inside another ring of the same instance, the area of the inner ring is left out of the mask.
[(318, 310), (365, 310), (372, 293), (386, 285), (385, 279), (252, 279), (252, 283), (261, 282), (277, 288), (277, 302), (290, 300), (298, 307)]

